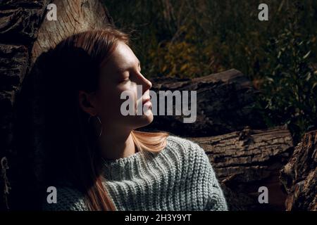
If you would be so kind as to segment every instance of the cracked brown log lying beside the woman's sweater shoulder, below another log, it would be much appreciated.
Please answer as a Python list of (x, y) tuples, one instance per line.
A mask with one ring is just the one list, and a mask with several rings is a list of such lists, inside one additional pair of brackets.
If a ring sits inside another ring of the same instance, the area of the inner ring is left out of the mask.
[[(204, 148), (225, 190), (230, 210), (284, 210), (286, 195), (278, 176), (293, 150), (285, 127), (246, 127), (220, 136), (190, 138)], [(258, 201), (268, 188), (268, 204)]]

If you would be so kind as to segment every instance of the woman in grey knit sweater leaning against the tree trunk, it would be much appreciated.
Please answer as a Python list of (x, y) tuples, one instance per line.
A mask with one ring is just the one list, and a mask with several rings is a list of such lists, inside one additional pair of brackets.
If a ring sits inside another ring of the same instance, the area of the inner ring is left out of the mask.
[[(127, 34), (82, 32), (46, 55), (45, 185), (56, 187), (57, 203), (47, 203), (46, 193), (44, 210), (227, 210), (203, 149), (165, 132), (135, 131), (153, 120), (151, 82)], [(123, 116), (123, 91), (149, 112)]]

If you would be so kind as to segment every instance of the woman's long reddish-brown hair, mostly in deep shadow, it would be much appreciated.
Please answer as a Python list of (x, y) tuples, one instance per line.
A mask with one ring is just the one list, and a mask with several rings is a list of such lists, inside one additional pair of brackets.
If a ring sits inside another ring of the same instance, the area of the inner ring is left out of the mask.
[[(85, 195), (89, 210), (116, 207), (102, 183), (97, 138), (89, 126), (89, 115), (80, 108), (78, 91), (97, 91), (100, 65), (111, 57), (118, 41), (129, 44), (128, 34), (107, 27), (74, 34), (46, 53), (44, 184), (72, 184)], [(167, 132), (132, 131), (140, 151), (159, 152), (166, 146), (167, 136)]]

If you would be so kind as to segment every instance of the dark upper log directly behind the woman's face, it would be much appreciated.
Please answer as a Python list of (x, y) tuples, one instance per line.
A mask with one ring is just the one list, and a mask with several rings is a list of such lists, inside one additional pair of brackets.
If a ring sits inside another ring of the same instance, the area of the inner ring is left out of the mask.
[(143, 131), (163, 130), (180, 136), (214, 136), (242, 130), (246, 126), (266, 128), (260, 113), (254, 108), (259, 92), (238, 70), (194, 79), (152, 79), (151, 82), (158, 96), (159, 91), (197, 91), (197, 120), (184, 123), (183, 116), (154, 115), (154, 122)]

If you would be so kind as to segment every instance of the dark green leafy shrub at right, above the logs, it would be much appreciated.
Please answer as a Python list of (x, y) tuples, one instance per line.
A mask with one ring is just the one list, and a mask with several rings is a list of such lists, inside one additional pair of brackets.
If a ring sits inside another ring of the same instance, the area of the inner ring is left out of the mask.
[[(297, 8), (296, 15), (300, 11)], [(317, 70), (309, 57), (316, 36), (302, 34), (298, 19), (292, 18), (266, 44), (259, 99), (269, 124), (288, 124), (295, 142), (311, 127), (317, 128)]]

